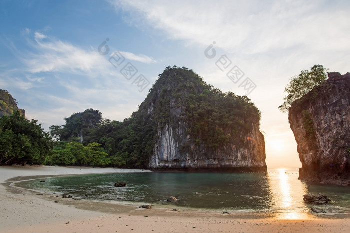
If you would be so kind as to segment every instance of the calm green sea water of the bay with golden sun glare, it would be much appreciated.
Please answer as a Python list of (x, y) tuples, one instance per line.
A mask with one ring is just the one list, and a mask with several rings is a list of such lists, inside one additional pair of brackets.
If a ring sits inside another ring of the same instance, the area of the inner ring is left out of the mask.
[[(303, 195), (323, 193), (339, 212), (350, 209), (350, 188), (312, 185), (300, 181), (297, 169), (269, 169), (268, 173), (115, 173), (74, 175), (30, 180), (17, 186), (43, 192), (67, 192), (89, 200), (166, 204), (231, 211), (305, 213)], [(126, 187), (114, 187), (117, 181)], [(88, 196), (86, 197), (85, 194)]]

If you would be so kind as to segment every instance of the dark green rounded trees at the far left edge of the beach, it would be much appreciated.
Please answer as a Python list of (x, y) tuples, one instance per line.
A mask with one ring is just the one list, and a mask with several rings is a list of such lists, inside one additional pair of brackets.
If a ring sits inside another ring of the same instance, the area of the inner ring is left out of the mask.
[(0, 118), (0, 164), (46, 164), (53, 142), (36, 120), (29, 121), (19, 111)]

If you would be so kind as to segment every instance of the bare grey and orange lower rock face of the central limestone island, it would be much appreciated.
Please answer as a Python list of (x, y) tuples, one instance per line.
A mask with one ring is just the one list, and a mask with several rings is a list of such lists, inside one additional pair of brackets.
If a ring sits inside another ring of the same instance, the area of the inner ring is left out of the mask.
[(190, 151), (181, 150), (190, 141), (184, 123), (158, 130), (158, 140), (150, 158), (153, 169), (222, 169), (236, 171), (266, 171), (265, 142), (257, 122), (253, 129), (241, 135), (244, 146), (235, 142), (208, 151), (205, 146), (189, 143)]

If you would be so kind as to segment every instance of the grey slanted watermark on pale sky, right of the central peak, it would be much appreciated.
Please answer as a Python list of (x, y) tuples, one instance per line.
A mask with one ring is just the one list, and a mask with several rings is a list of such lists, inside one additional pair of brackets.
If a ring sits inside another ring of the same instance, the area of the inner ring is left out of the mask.
[[(204, 55), (208, 59), (213, 59), (216, 57), (216, 49), (214, 45), (215, 41), (212, 42), (205, 50)], [(244, 72), (237, 66), (232, 65), (232, 61), (227, 57), (226, 54), (221, 55), (215, 62), (215, 65), (222, 71), (226, 73), (226, 76), (235, 84), (239, 83), (244, 77)], [(255, 88), (256, 84), (250, 79), (245, 78), (240, 82), (239, 88), (243, 88), (245, 95), (248, 96)]]

